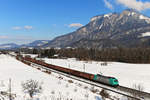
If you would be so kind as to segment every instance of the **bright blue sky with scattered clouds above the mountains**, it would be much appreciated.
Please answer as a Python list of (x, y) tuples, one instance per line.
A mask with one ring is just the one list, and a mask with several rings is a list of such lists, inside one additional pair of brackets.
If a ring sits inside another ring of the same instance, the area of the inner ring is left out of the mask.
[(130, 1), (133, 5), (129, 0), (0, 0), (0, 44), (53, 39), (87, 24), (95, 15), (131, 7), (150, 16), (149, 0)]

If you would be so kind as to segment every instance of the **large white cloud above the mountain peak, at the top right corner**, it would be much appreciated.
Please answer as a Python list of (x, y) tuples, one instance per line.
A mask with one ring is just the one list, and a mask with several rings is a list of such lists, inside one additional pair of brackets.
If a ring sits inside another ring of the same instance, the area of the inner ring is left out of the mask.
[(141, 0), (117, 0), (117, 3), (137, 11), (150, 9), (150, 2), (142, 2)]

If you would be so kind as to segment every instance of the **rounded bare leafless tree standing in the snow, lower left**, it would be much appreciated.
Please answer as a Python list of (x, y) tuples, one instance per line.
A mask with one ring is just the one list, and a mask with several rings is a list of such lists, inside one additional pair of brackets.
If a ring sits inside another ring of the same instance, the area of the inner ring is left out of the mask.
[(40, 83), (39, 81), (30, 79), (22, 82), (21, 85), (23, 92), (29, 93), (31, 98), (34, 94), (42, 92), (42, 83)]

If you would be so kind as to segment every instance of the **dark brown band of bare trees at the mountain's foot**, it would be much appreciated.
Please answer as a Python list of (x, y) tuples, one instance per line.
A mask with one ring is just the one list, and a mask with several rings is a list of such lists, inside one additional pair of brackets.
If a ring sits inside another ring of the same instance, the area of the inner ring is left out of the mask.
[[(31, 52), (31, 51), (30, 51)], [(119, 49), (46, 49), (32, 50), (39, 57), (77, 58), (79, 60), (116, 61), (127, 63), (150, 63), (150, 48)], [(57, 56), (56, 56), (57, 55)]]

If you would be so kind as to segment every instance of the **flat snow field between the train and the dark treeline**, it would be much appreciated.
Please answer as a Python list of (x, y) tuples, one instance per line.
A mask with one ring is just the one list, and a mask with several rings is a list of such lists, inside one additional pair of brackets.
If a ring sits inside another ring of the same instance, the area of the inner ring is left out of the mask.
[(47, 59), (45, 62), (68, 67), (93, 74), (102, 73), (106, 76), (113, 76), (119, 80), (122, 86), (132, 88), (134, 84), (141, 85), (144, 91), (150, 93), (150, 64), (128, 64), (119, 62), (77, 61), (75, 59)]

